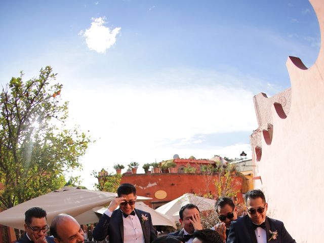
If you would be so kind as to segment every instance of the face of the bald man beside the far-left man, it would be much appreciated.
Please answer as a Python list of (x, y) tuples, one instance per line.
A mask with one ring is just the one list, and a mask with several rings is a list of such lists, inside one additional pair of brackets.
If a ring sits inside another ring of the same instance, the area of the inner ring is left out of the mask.
[(85, 237), (81, 226), (75, 219), (66, 217), (57, 225), (59, 238), (54, 238), (56, 243), (84, 243)]

